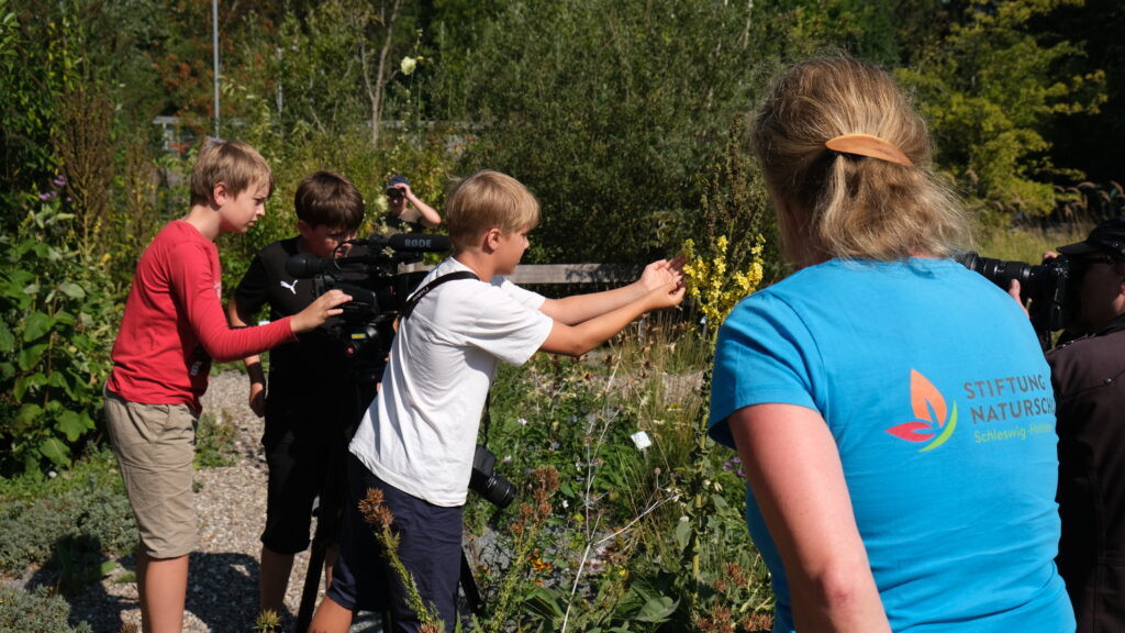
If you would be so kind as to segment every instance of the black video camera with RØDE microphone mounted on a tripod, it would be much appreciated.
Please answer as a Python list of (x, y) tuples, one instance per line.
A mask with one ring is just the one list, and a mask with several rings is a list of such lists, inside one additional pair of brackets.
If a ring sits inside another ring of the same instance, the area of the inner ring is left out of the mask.
[(426, 275), (424, 270), (398, 273), (398, 265), (421, 261), (426, 252), (449, 251), (451, 243), (444, 235), (424, 233), (374, 235), (344, 243), (358, 255), (321, 259), (297, 253), (286, 262), (286, 273), (313, 279), (316, 296), (331, 289), (351, 295), (352, 300), (340, 306), (341, 316), (330, 321), (326, 329), (346, 341), (348, 357), (370, 358), (381, 365), (390, 350), (395, 318)]

